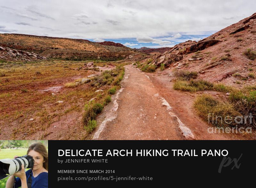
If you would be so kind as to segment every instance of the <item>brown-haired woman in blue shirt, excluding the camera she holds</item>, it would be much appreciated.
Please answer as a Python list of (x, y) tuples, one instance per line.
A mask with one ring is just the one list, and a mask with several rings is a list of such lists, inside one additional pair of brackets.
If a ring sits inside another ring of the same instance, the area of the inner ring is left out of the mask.
[(5, 188), (48, 188), (48, 152), (45, 146), (42, 143), (32, 144), (27, 155), (35, 160), (33, 168), (25, 172), (22, 165), (19, 172), (8, 178)]

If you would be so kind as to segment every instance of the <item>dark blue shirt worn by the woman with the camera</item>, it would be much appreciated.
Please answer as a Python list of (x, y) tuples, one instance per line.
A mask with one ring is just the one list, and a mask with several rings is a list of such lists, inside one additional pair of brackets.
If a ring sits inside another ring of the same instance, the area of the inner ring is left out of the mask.
[[(26, 171), (26, 177), (28, 181), (28, 177), (30, 176), (31, 169)], [(32, 173), (33, 174), (33, 173)], [(19, 177), (16, 178), (15, 188), (21, 187), (21, 180)], [(42, 172), (38, 176), (32, 176), (32, 184), (31, 188), (48, 188), (48, 173)]]

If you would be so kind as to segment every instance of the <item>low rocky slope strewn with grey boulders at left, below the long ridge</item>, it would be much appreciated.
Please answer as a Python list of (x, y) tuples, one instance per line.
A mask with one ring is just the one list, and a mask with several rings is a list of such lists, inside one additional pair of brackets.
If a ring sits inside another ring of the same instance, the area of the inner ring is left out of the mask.
[(33, 52), (15, 50), (8, 47), (4, 48), (0, 46), (0, 59), (4, 59), (7, 61), (35, 61), (47, 58)]

